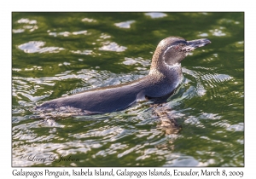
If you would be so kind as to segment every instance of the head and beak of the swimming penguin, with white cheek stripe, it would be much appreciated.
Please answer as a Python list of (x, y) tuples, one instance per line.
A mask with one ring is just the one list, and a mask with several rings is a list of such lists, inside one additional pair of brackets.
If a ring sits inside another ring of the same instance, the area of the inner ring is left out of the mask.
[[(187, 41), (184, 38), (169, 37), (160, 41), (158, 44), (153, 61), (164, 63), (165, 66), (173, 66), (179, 64), (190, 51), (203, 47), (211, 43), (207, 38)], [(152, 62), (153, 62), (152, 61)]]

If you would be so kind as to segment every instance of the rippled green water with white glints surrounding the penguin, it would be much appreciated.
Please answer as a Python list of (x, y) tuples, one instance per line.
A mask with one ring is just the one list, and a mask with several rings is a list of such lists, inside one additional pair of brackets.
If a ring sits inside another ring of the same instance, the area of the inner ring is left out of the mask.
[[(170, 36), (212, 41), (183, 60), (183, 84), (166, 104), (177, 133), (159, 129), (146, 103), (30, 118), (43, 101), (142, 78)], [(243, 166), (244, 14), (13, 13), (12, 94), (13, 166)]]

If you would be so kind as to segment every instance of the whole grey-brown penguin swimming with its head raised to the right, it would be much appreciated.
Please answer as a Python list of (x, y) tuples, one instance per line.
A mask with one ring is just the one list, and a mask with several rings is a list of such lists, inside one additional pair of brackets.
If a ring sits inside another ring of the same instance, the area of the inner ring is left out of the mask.
[[(80, 116), (117, 112), (133, 106), (137, 101), (163, 103), (182, 82), (181, 61), (191, 50), (209, 43), (211, 42), (206, 38), (191, 41), (179, 37), (165, 38), (154, 51), (150, 71), (146, 77), (127, 84), (87, 90), (46, 101), (36, 107), (36, 110), (55, 111), (62, 116)], [(163, 116), (162, 112), (156, 111), (156, 113), (160, 117)]]

